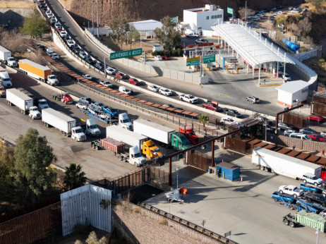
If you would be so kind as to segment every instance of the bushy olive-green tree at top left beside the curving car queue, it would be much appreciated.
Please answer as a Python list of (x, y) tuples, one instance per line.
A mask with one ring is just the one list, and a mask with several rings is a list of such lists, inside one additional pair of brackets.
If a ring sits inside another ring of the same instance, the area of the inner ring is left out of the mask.
[(30, 35), (31, 37), (39, 37), (44, 33), (51, 32), (49, 20), (45, 20), (39, 13), (33, 13), (25, 18), (23, 28), (20, 32)]

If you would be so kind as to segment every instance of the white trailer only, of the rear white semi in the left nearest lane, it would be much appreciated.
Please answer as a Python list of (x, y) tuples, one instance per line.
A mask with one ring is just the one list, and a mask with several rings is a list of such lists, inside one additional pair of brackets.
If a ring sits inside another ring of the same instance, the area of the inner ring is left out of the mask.
[(9, 105), (17, 106), (22, 114), (28, 114), (30, 107), (33, 106), (33, 99), (16, 88), (6, 90), (6, 99)]

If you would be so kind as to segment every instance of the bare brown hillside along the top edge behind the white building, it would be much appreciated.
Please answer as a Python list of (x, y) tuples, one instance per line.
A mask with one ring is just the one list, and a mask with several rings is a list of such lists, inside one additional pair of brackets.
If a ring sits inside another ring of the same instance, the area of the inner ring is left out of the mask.
[[(58, 0), (63, 3), (78, 23), (87, 25), (92, 21), (92, 1), (90, 0)], [(160, 20), (164, 16), (183, 17), (183, 9), (200, 8), (205, 3), (211, 2), (221, 8), (227, 7), (238, 9), (244, 6), (245, 1), (239, 0), (98, 0), (99, 3), (99, 24), (109, 25), (111, 20), (123, 17), (127, 21), (138, 20)], [(96, 1), (93, 1), (94, 20), (96, 20)], [(261, 9), (272, 6), (288, 6), (301, 4), (302, 0), (248, 0), (248, 8)]]

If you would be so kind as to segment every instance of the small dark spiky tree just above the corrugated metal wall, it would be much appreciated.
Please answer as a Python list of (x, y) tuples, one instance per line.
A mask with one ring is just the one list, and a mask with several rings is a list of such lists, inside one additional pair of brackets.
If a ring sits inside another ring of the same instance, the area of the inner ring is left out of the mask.
[(85, 172), (81, 171), (82, 166), (75, 163), (66, 166), (66, 172), (64, 176), (64, 184), (67, 190), (73, 190), (85, 185), (87, 178), (85, 177)]

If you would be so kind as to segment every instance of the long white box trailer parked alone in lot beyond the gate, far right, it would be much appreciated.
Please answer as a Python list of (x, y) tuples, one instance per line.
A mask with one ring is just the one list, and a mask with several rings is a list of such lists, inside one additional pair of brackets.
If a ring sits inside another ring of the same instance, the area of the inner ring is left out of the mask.
[(294, 179), (301, 179), (304, 173), (313, 173), (318, 177), (322, 173), (322, 167), (317, 164), (262, 147), (253, 149), (251, 162), (260, 166), (262, 170), (265, 169)]

